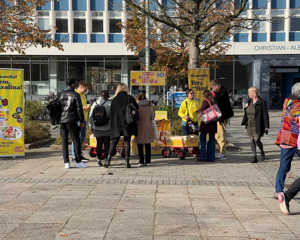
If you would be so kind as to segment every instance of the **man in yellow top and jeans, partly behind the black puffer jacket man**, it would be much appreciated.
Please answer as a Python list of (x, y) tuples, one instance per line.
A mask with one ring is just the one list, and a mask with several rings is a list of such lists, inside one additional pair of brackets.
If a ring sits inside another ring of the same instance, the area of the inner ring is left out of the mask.
[[(82, 143), (85, 140), (85, 133), (86, 133), (86, 120), (88, 119), (88, 111), (91, 109), (91, 106), (88, 106), (86, 103), (86, 98), (85, 98), (85, 92), (88, 91), (88, 88), (91, 88), (91, 86), (88, 84), (87, 81), (80, 81), (79, 86), (75, 91), (80, 95), (82, 106), (83, 106), (83, 113), (84, 113), (84, 127), (80, 128), (80, 142), (81, 142), (81, 148), (82, 148)], [(78, 122), (79, 126), (80, 122)], [(82, 162), (88, 162), (89, 159), (85, 158), (82, 156), (82, 151), (81, 151), (81, 161)], [(75, 152), (74, 152), (74, 144), (72, 142), (72, 163), (75, 162)]]

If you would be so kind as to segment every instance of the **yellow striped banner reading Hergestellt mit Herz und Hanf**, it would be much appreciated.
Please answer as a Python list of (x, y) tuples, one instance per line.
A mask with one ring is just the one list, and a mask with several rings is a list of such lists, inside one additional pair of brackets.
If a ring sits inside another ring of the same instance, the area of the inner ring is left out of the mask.
[(201, 104), (203, 91), (210, 90), (209, 68), (189, 68), (187, 73), (189, 88), (194, 90), (194, 98)]

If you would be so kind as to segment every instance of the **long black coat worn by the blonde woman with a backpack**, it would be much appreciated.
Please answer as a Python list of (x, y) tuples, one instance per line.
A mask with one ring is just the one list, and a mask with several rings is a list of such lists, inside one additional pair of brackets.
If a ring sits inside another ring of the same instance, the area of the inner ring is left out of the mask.
[(128, 95), (127, 92), (119, 92), (119, 94), (113, 98), (110, 105), (110, 139), (121, 136), (137, 136), (137, 123), (129, 124), (127, 128), (123, 128), (125, 121), (125, 112), (122, 108), (127, 103), (132, 103), (139, 110), (139, 105), (135, 101), (134, 97)]

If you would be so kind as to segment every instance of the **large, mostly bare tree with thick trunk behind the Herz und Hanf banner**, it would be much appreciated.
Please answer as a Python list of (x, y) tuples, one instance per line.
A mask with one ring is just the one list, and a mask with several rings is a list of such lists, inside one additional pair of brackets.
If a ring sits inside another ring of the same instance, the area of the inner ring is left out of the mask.
[(188, 48), (188, 67), (199, 67), (199, 56), (217, 53), (222, 42), (235, 33), (279, 21), (272, 19), (271, 13), (261, 14), (271, 0), (259, 9), (250, 0), (164, 0), (163, 4), (151, 0), (150, 10), (143, 1), (125, 1), (126, 7), (118, 7), (132, 17), (148, 17), (157, 22), (156, 35), (173, 37), (172, 49), (178, 50), (178, 41), (182, 39)]

